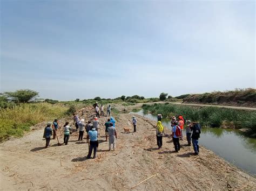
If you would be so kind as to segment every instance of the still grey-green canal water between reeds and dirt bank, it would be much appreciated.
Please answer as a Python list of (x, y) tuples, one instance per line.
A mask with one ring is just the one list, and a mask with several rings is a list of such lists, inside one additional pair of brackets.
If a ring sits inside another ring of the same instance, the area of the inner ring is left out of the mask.
[[(132, 113), (157, 121), (157, 116), (144, 114), (143, 110)], [(163, 120), (162, 123), (165, 127), (171, 128), (170, 121)], [(212, 150), (244, 171), (256, 175), (256, 139), (244, 137), (239, 130), (202, 128), (199, 145)]]

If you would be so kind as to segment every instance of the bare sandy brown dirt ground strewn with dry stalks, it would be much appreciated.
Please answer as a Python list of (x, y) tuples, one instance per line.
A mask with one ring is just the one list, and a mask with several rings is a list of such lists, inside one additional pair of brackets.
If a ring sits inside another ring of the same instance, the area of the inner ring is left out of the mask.
[[(93, 110), (84, 112), (85, 121)], [(99, 151), (96, 159), (86, 160), (86, 139), (78, 142), (72, 133), (68, 145), (44, 148), (45, 123), (37, 124), (23, 138), (0, 144), (1, 190), (255, 190), (256, 179), (231, 166), (212, 151), (200, 147), (194, 156), (192, 146), (181, 141), (174, 152), (171, 132), (165, 128), (163, 147), (157, 150), (155, 122), (136, 116), (136, 133), (132, 131), (131, 114), (117, 119), (117, 148), (108, 151), (104, 123), (100, 117)], [(65, 119), (66, 120), (66, 119)], [(60, 121), (63, 126), (65, 120)], [(72, 122), (72, 118), (69, 118)], [(58, 134), (60, 136), (60, 134)], [(60, 138), (60, 142), (63, 139)], [(200, 144), (200, 139), (199, 139)], [(147, 180), (146, 180), (147, 179)], [(144, 181), (145, 180), (145, 181)], [(142, 182), (142, 183), (141, 183)]]

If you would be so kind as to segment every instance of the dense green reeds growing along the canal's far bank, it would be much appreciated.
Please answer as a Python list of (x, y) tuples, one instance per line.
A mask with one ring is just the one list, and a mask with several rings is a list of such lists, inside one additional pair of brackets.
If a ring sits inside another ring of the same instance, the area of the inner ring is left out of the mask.
[(174, 104), (143, 104), (145, 112), (162, 114), (165, 118), (183, 115), (185, 119), (197, 121), (203, 126), (248, 128), (246, 134), (256, 137), (256, 111), (235, 110), (217, 107), (193, 107)]

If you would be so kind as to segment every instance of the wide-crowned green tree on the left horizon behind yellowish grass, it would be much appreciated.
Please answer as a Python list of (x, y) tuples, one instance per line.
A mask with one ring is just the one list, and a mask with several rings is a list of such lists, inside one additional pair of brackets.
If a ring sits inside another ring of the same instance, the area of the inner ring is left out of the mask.
[(33, 91), (30, 89), (20, 89), (14, 92), (5, 92), (4, 93), (9, 100), (14, 101), (16, 103), (28, 103), (32, 99), (35, 99), (38, 96), (37, 91)]

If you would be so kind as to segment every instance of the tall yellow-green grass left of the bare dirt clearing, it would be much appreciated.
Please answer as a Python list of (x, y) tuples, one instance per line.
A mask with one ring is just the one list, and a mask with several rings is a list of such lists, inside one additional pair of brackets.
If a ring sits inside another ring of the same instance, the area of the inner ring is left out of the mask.
[(21, 137), (30, 126), (64, 117), (68, 108), (50, 103), (20, 104), (0, 109), (0, 142), (9, 137)]

